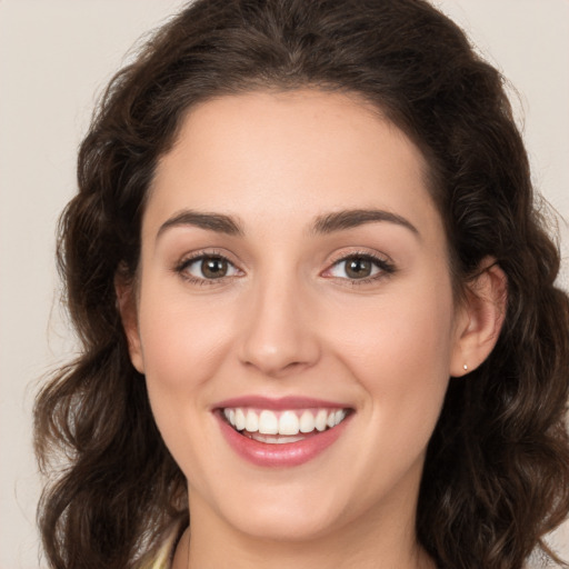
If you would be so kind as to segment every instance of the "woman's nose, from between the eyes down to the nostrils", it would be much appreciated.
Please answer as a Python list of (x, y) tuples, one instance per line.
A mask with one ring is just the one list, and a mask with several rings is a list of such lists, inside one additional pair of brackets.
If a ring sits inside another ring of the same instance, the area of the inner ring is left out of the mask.
[(293, 279), (266, 280), (250, 290), (241, 312), (241, 362), (272, 378), (312, 367), (320, 345), (309, 297)]

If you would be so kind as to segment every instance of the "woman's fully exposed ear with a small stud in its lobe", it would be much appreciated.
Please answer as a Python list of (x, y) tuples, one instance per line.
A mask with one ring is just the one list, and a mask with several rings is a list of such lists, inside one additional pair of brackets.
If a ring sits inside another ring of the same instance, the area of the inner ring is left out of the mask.
[(452, 377), (466, 376), (488, 358), (506, 316), (508, 278), (495, 259), (483, 259), (480, 267), (458, 311), (450, 361)]

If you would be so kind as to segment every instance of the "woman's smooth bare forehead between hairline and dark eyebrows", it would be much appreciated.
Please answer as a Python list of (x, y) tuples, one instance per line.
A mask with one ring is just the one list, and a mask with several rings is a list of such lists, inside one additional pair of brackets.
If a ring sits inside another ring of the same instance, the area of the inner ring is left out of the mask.
[(381, 208), (420, 223), (438, 217), (427, 172), (409, 138), (357, 96), (226, 96), (184, 117), (158, 164), (147, 218), (192, 208), (278, 224)]

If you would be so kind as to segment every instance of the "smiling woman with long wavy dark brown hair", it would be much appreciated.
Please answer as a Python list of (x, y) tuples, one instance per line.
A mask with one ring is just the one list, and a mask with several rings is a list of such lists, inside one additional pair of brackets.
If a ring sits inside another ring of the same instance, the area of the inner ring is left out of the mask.
[(567, 516), (559, 256), (430, 4), (191, 4), (111, 82), (60, 236), (53, 567), (519, 568)]

